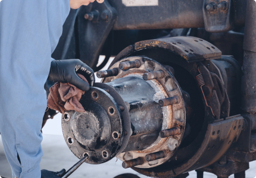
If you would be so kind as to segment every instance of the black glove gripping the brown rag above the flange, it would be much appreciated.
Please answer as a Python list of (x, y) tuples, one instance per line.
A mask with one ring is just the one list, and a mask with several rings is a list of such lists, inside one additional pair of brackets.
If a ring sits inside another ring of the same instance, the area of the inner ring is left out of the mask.
[(93, 70), (79, 59), (53, 60), (48, 80), (53, 82), (69, 82), (83, 91), (90, 89), (89, 84), (83, 81), (78, 75), (82, 74), (92, 86), (95, 82)]

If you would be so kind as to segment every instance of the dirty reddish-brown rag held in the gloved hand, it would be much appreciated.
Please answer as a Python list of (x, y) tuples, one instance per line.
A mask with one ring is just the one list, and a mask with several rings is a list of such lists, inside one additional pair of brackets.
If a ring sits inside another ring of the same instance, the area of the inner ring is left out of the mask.
[[(88, 82), (86, 78), (77, 74), (82, 80)], [(76, 112), (85, 112), (82, 104), (79, 103), (85, 91), (80, 90), (70, 83), (57, 82), (50, 88), (50, 94), (47, 98), (47, 106), (51, 109), (64, 113), (67, 110)]]

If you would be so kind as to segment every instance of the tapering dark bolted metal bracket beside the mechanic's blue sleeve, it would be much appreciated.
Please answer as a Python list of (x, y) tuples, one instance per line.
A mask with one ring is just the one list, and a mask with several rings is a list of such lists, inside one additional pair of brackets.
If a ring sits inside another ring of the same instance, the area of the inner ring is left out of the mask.
[(92, 7), (82, 7), (77, 14), (79, 59), (95, 68), (99, 53), (117, 20), (117, 12), (108, 1), (94, 2)]

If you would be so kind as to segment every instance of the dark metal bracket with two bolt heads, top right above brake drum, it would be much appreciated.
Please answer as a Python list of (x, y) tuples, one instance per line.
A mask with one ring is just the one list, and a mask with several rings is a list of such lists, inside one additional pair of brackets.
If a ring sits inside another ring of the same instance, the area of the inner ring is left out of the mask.
[(232, 0), (204, 0), (204, 26), (208, 32), (229, 31), (233, 28)]

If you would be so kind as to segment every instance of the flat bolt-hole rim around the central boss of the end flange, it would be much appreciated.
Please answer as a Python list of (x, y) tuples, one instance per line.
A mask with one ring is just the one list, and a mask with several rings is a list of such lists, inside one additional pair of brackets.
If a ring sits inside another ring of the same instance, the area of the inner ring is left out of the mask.
[[(92, 94), (95, 92), (98, 94), (97, 98), (93, 98)], [(115, 155), (117, 154), (118, 150), (121, 147), (121, 144), (123, 143), (123, 135), (124, 135), (124, 128), (122, 125), (123, 117), (121, 116), (119, 106), (117, 103), (115, 103), (114, 98), (110, 96), (110, 94), (108, 94), (106, 91), (102, 90), (101, 88), (96, 88), (96, 87), (90, 87), (90, 90), (86, 91), (85, 94), (83, 94), (80, 100), (80, 103), (83, 105), (86, 112), (88, 113), (98, 113), (98, 112), (107, 113), (109, 118), (109, 123), (110, 123), (110, 127), (109, 127), (110, 136), (108, 136), (108, 138), (105, 139), (104, 145), (100, 148), (85, 147), (85, 145), (80, 144), (75, 139), (75, 136), (81, 135), (81, 134), (74, 133), (77, 131), (72, 130), (73, 125), (71, 124), (73, 120), (76, 121), (78, 118), (81, 119), (80, 116), (84, 115), (84, 113), (68, 111), (65, 113), (68, 113), (70, 115), (70, 119), (65, 119), (63, 115), (63, 118), (61, 120), (65, 142), (67, 143), (68, 147), (73, 152), (73, 154), (76, 155), (76, 157), (83, 158), (83, 154), (85, 153), (89, 154), (89, 159), (85, 161), (86, 163), (89, 163), (89, 164), (105, 163), (111, 160), (111, 158), (115, 157)], [(93, 108), (94, 106), (93, 104), (94, 105), (98, 104), (98, 106), (101, 106), (102, 110), (95, 110), (95, 108)], [(114, 110), (113, 114), (108, 112), (110, 107), (112, 107)], [(79, 126), (79, 129), (80, 129), (80, 132), (82, 132), (83, 129), (85, 129), (85, 133), (83, 135), (86, 134), (86, 126), (84, 128), (83, 126)], [(117, 139), (114, 139), (113, 137), (114, 132), (118, 133)], [(97, 135), (95, 135), (95, 138), (96, 136)], [(68, 139), (73, 139), (72, 144), (68, 142)], [(79, 141), (81, 141), (82, 139), (83, 138), (79, 139)], [(100, 139), (99, 141), (101, 141), (101, 138), (99, 139)], [(104, 155), (106, 156), (104, 157)]]

